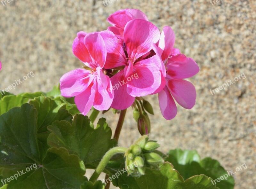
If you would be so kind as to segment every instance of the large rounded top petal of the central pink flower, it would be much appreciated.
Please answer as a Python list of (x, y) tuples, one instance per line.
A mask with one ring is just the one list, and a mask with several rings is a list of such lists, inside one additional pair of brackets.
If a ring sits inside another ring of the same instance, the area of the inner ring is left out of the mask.
[(146, 20), (129, 21), (124, 28), (124, 43), (131, 60), (135, 60), (152, 49), (152, 43), (160, 38), (158, 28)]

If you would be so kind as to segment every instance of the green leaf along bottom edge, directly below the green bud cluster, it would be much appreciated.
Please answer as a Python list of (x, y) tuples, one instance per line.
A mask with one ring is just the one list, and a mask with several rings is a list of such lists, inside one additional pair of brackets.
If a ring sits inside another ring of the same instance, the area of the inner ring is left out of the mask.
[(204, 175), (196, 175), (184, 181), (168, 162), (160, 165), (159, 170), (147, 168), (145, 175), (141, 177), (131, 177), (124, 173), (118, 178), (118, 186), (121, 189), (216, 189), (211, 178)]

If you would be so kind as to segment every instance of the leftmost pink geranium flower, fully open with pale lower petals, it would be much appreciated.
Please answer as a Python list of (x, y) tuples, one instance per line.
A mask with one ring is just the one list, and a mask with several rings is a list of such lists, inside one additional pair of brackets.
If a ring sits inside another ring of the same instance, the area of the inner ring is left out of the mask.
[[(112, 104), (114, 92), (110, 79), (104, 75), (106, 45), (98, 32), (79, 32), (73, 43), (73, 53), (87, 67), (75, 69), (60, 78), (61, 95), (75, 97), (78, 110), (86, 115), (93, 106), (107, 110)], [(110, 89), (110, 90), (108, 90)]]

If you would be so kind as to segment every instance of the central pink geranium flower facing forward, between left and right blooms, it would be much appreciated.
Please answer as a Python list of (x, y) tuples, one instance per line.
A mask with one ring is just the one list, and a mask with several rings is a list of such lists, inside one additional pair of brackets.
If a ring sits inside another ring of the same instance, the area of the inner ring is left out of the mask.
[[(115, 90), (112, 108), (126, 109), (132, 105), (135, 97), (151, 94), (159, 88), (161, 57), (156, 52), (150, 58), (147, 57), (160, 38), (160, 32), (155, 25), (142, 19), (129, 21), (124, 27), (124, 46), (118, 43), (112, 32), (104, 31), (100, 34), (108, 52), (104, 68), (121, 69), (111, 77), (113, 86), (122, 84)], [(155, 51), (158, 51), (157, 48)], [(134, 74), (138, 78), (129, 81)]]

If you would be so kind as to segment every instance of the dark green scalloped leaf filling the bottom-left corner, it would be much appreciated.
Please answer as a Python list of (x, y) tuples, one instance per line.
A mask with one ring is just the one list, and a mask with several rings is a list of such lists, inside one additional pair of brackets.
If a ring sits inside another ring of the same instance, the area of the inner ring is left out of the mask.
[[(85, 167), (76, 155), (68, 154), (65, 148), (51, 148), (47, 151), (42, 165), (24, 167), (23, 175), (7, 183), (8, 189), (77, 189), (87, 178)], [(17, 169), (5, 169), (4, 179), (17, 174)], [(21, 174), (21, 173), (20, 173)], [(4, 186), (4, 187), (5, 187)]]

